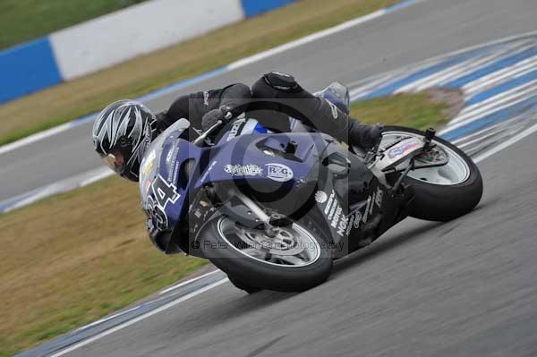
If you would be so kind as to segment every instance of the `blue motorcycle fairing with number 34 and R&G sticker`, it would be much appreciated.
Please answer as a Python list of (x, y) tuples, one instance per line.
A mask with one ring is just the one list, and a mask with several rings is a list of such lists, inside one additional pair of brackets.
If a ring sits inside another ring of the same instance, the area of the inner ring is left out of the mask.
[[(327, 192), (329, 199), (334, 175), (346, 174), (345, 170), (335, 172), (337, 163), (328, 160), (343, 148), (320, 133), (253, 133), (199, 148), (183, 139), (188, 128), (184, 122), (163, 132), (141, 163), (142, 208), (148, 217), (149, 236), (166, 253), (179, 251), (177, 247), (183, 251), (188, 248), (190, 238), (195, 238), (209, 220), (209, 213), (214, 213), (214, 209), (199, 207), (204, 186), (244, 189), (268, 208), (286, 214), (307, 207), (317, 191)], [(336, 191), (341, 204), (334, 203), (320, 218), (338, 241), (343, 238), (339, 220), (348, 217), (348, 206), (345, 192)], [(320, 211), (327, 210), (318, 206)], [(190, 215), (191, 211), (194, 214)], [(179, 229), (182, 223), (188, 226)], [(345, 233), (348, 235), (348, 230)], [(170, 242), (175, 242), (172, 248)]]

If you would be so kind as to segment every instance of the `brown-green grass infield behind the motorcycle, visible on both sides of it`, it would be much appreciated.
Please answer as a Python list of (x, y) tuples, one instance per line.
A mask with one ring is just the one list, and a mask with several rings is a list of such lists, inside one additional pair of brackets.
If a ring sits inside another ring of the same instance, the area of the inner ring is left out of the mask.
[[(354, 104), (365, 123), (447, 121), (427, 93)], [(21, 352), (170, 285), (205, 260), (158, 252), (138, 187), (109, 178), (0, 216), (0, 356)]]

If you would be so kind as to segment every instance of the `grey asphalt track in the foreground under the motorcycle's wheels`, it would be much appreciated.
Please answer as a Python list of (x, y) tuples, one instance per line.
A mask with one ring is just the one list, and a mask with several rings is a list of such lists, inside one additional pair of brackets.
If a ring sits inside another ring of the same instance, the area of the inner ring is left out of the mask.
[(535, 356), (536, 139), (482, 162), (473, 213), (404, 222), (311, 291), (220, 285), (66, 355)]

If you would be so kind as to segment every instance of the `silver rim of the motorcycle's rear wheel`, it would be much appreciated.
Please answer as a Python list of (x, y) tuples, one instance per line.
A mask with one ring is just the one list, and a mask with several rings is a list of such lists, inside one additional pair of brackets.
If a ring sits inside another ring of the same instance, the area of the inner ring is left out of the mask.
[[(386, 148), (390, 143), (395, 140), (399, 140), (403, 137), (406, 138), (422, 138), (423, 135), (413, 132), (383, 132), (381, 147)], [(409, 177), (414, 180), (421, 181), (422, 183), (430, 183), (437, 185), (456, 185), (464, 183), (470, 177), (470, 167), (466, 163), (465, 159), (460, 156), (454, 149), (449, 148), (447, 145), (433, 140), (433, 142), (442, 150), (447, 153), (449, 162), (445, 166), (438, 167), (426, 167), (417, 170), (411, 170), (408, 173)], [(408, 160), (401, 163), (397, 168), (405, 168), (408, 165)]]

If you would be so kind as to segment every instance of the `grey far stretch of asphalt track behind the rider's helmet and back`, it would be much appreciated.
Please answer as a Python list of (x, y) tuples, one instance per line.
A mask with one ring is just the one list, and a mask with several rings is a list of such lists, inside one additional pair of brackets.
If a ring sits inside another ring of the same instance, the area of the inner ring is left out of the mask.
[[(350, 83), (434, 55), (537, 30), (531, 0), (427, 0), (378, 20), (149, 102), (165, 109), (177, 95), (229, 82), (253, 83), (270, 69), (292, 72), (310, 89)], [(90, 143), (91, 124), (0, 155), (0, 201), (100, 167)]]

